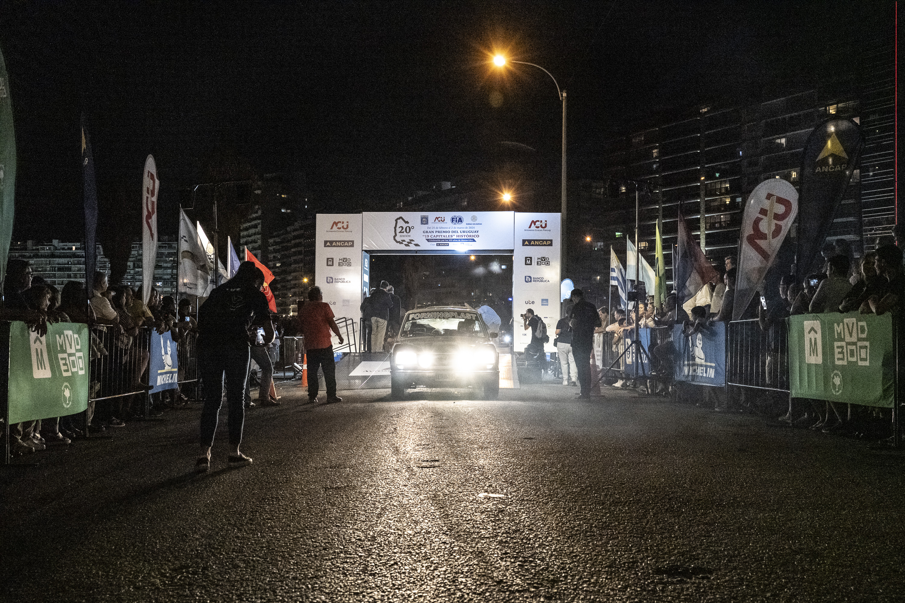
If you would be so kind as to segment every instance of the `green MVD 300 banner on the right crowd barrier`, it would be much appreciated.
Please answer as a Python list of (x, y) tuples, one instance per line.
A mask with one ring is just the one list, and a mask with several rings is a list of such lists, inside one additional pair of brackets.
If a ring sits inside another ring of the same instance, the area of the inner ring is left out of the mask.
[(892, 318), (805, 314), (789, 318), (793, 398), (892, 407), (896, 359)]

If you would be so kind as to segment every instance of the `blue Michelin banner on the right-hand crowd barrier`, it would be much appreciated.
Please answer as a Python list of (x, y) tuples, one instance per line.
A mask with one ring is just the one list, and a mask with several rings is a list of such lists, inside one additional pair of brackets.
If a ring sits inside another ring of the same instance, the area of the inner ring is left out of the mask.
[(681, 325), (672, 327), (676, 347), (674, 377), (695, 385), (726, 385), (726, 323), (714, 323), (700, 333), (682, 335)]

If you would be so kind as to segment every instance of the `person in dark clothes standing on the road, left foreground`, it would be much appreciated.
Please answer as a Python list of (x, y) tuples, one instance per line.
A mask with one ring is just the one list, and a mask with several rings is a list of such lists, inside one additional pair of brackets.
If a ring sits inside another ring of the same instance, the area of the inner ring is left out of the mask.
[(254, 262), (244, 261), (235, 276), (211, 292), (198, 310), (198, 372), (204, 383), (205, 408), (201, 412), (201, 454), (195, 462), (198, 471), (206, 471), (211, 464), (211, 448), (217, 419), (223, 404), (224, 378), (226, 403), (229, 406), (228, 457), (231, 465), (250, 465), (252, 458), (239, 450), (245, 421), (243, 399), (250, 346), (257, 344), (257, 329), (249, 329), (257, 322), (264, 329), (263, 343), (273, 341), (273, 323), (267, 297), (261, 292), (264, 273)]

